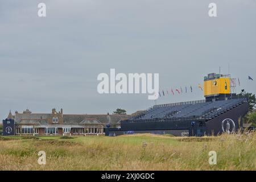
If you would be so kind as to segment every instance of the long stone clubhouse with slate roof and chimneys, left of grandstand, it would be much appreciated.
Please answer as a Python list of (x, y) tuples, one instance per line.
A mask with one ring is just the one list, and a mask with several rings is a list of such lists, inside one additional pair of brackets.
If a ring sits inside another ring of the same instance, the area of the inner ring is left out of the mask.
[(23, 113), (10, 111), (7, 119), (15, 121), (15, 135), (103, 135), (105, 127), (119, 127), (127, 114), (63, 114), (52, 109), (52, 113)]

